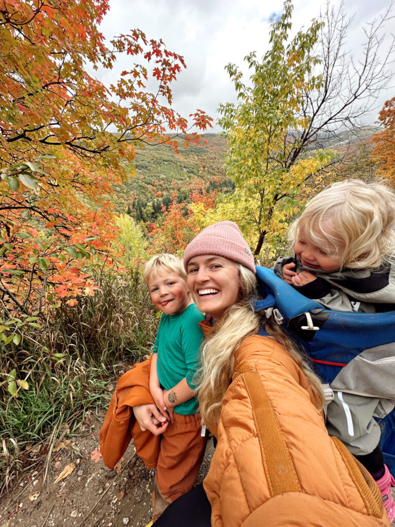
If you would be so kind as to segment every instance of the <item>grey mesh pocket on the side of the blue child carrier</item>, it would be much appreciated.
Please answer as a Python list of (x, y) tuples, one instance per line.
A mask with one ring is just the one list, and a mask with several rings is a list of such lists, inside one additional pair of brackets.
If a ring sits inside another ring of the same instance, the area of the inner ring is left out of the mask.
[(331, 388), (395, 402), (395, 343), (364, 350), (342, 368)]

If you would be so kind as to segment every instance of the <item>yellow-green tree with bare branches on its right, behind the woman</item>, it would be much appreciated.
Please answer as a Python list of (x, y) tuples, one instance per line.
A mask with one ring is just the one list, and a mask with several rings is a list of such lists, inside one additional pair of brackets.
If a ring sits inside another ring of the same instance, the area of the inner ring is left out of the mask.
[(229, 140), (227, 174), (236, 188), (219, 204), (216, 219), (238, 221), (255, 256), (264, 242), (283, 235), (303, 204), (306, 182), (330, 170), (333, 153), (322, 150), (322, 138), (357, 125), (390, 79), (393, 41), (380, 58), (380, 32), (390, 10), (366, 30), (358, 64), (344, 51), (351, 20), (342, 6), (335, 12), (327, 4), (317, 21), (291, 39), (292, 8), (286, 0), (282, 16), (271, 23), (271, 48), (262, 60), (255, 53), (245, 57), (250, 84), (238, 67), (226, 66), (239, 104), (219, 109)]

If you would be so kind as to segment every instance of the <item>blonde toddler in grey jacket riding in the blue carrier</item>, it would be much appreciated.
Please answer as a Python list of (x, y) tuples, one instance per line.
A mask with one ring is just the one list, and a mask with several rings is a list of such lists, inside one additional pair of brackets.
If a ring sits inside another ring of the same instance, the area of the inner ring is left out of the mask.
[[(395, 310), (395, 195), (380, 183), (348, 180), (315, 196), (290, 229), (294, 257), (279, 258), (280, 276), (328, 309)], [(395, 518), (391, 484), (378, 446), (380, 398), (335, 392), (327, 428), (368, 469)], [(391, 406), (391, 409), (393, 405)], [(388, 411), (387, 411), (388, 413)], [(382, 416), (382, 415), (381, 415)]]

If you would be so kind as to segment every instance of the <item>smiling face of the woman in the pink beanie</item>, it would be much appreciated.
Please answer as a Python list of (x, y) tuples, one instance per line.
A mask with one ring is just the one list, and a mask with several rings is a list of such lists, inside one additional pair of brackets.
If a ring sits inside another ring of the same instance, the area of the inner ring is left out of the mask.
[(187, 284), (197, 309), (218, 320), (238, 300), (239, 270), (222, 256), (194, 256), (188, 262)]

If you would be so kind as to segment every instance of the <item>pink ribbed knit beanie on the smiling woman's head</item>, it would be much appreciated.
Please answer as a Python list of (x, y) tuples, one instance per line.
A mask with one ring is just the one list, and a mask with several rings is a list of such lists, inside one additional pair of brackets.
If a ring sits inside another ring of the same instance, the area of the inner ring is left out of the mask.
[(254, 257), (239, 227), (233, 221), (214, 223), (188, 243), (184, 252), (185, 270), (191, 258), (202, 255), (223, 256), (239, 262), (255, 273)]

